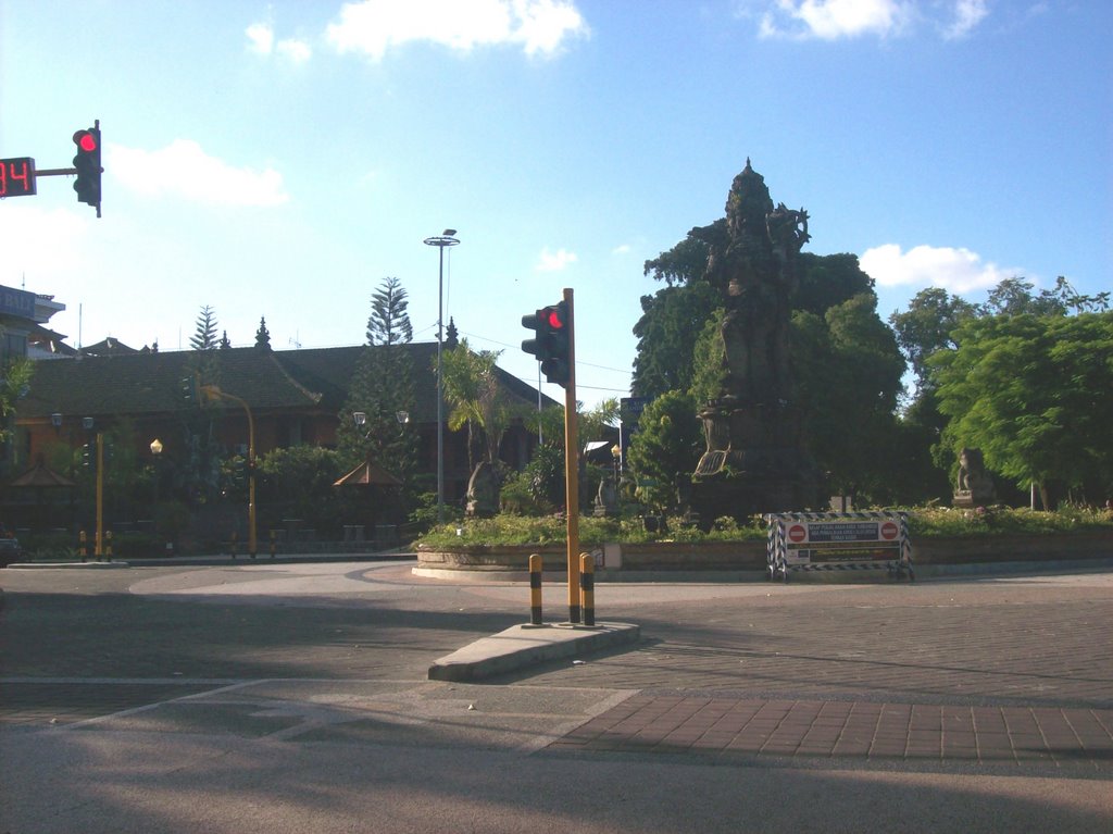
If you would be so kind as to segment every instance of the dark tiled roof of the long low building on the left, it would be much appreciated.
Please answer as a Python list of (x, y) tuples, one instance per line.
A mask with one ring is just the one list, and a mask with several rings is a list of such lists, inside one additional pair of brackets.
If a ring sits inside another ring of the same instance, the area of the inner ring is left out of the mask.
[[(313, 410), (337, 413), (363, 346), (295, 351), (233, 347), (205, 354), (216, 363), (215, 382), (221, 391), (245, 400), (253, 410)], [(436, 419), (436, 343), (411, 343), (417, 395), (415, 422)], [(186, 408), (181, 380), (198, 361), (195, 351), (134, 353), (115, 356), (37, 362), (30, 390), (19, 401), (23, 420), (49, 419), (55, 412), (71, 416), (158, 414)], [(501, 369), (508, 393), (536, 403), (536, 390)], [(425, 384), (422, 384), (424, 381)], [(545, 404), (554, 401), (545, 398)]]

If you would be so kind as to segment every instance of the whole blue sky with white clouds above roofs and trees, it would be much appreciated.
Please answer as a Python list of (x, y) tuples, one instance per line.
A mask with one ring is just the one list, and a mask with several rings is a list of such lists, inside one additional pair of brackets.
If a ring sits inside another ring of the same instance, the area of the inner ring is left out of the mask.
[[(575, 292), (578, 382), (626, 395), (647, 258), (752, 159), (851, 252), (880, 313), (926, 286), (1111, 288), (1105, 0), (4, 0), (0, 156), (67, 167), (101, 121), (104, 217), (68, 178), (0, 204), (0, 284), (91, 344), (359, 344), (387, 276), (536, 382), (522, 314)], [(79, 318), (80, 316), (80, 318)], [(562, 398), (560, 389), (546, 393)]]

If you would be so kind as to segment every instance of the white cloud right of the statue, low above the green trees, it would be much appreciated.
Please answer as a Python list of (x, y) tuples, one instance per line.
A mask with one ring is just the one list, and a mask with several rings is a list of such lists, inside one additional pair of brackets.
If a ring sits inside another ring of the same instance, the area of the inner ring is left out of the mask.
[(867, 249), (859, 263), (879, 286), (937, 286), (953, 293), (985, 290), (1024, 274), (1023, 269), (984, 263), (976, 252), (951, 246), (914, 246), (902, 252), (897, 244), (885, 244)]

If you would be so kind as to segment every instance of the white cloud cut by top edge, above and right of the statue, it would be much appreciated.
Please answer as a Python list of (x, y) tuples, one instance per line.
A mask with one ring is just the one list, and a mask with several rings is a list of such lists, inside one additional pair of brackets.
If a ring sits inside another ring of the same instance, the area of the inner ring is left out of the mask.
[(751, 0), (762, 38), (886, 38), (928, 22), (947, 39), (969, 35), (989, 13), (988, 0)]

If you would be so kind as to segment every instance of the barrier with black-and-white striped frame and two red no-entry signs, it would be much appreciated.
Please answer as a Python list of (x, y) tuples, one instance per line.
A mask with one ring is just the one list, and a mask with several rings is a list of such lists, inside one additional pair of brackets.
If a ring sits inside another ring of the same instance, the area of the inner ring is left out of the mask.
[(769, 524), (769, 579), (789, 571), (887, 570), (915, 580), (906, 512), (781, 512)]

